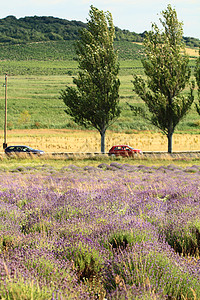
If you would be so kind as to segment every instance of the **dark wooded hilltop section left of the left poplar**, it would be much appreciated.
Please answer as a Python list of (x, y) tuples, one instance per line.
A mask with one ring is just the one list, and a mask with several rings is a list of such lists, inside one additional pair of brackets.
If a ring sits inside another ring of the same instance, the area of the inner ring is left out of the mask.
[(8, 16), (0, 20), (0, 42), (27, 43), (52, 40), (74, 40), (79, 29), (86, 25), (80, 21), (68, 21), (54, 17)]

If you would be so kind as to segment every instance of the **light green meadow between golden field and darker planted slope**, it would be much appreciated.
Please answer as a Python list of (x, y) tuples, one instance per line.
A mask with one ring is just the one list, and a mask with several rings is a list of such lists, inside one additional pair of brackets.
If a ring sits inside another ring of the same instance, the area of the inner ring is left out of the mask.
[[(193, 61), (194, 63), (194, 61)], [(51, 128), (51, 129), (84, 129), (71, 120), (70, 116), (64, 112), (65, 105), (59, 99), (59, 91), (64, 89), (66, 84), (72, 84), (73, 76), (77, 74), (77, 62), (44, 62), (44, 61), (2, 61), (0, 62), (1, 73), (8, 70), (8, 129), (31, 129), (31, 128)], [(12, 75), (24, 74), (24, 75)], [(146, 122), (145, 119), (137, 116), (132, 118), (132, 112), (127, 107), (128, 101), (132, 105), (144, 107), (141, 100), (133, 97), (132, 75), (143, 74), (142, 64), (138, 60), (120, 62), (120, 107), (121, 114), (116, 122), (111, 125), (113, 132), (134, 133), (138, 130), (151, 130), (155, 132), (155, 127)], [(39, 75), (40, 74), (40, 75)], [(63, 75), (62, 75), (63, 74)], [(4, 76), (0, 77), (0, 128), (4, 128)], [(195, 90), (195, 94), (197, 91)], [(21, 113), (26, 110), (30, 115), (30, 123), (19, 123)], [(41, 114), (42, 110), (42, 114)], [(39, 125), (39, 126), (38, 126)], [(188, 115), (177, 126), (177, 132), (197, 134), (200, 130), (199, 115), (195, 106)], [(9, 133), (10, 134), (10, 133)], [(120, 138), (120, 137), (118, 137)], [(10, 139), (10, 138), (9, 138)], [(185, 138), (185, 140), (188, 139)], [(193, 137), (191, 137), (193, 139)], [(14, 141), (13, 139), (11, 139)], [(146, 144), (146, 143), (145, 143)], [(98, 147), (100, 144), (98, 143)], [(135, 143), (133, 143), (135, 145)], [(186, 143), (188, 149), (188, 143)], [(194, 145), (193, 143), (191, 145)], [(40, 146), (40, 144), (38, 145)], [(174, 144), (175, 146), (175, 144)], [(57, 147), (57, 146), (56, 146)], [(141, 147), (141, 146), (140, 146)], [(149, 142), (149, 146), (151, 144)], [(182, 146), (182, 150), (186, 149)], [(191, 149), (193, 146), (191, 146)], [(149, 148), (151, 149), (151, 148)], [(195, 148), (196, 149), (196, 148)], [(194, 149), (193, 149), (194, 150)], [(198, 150), (198, 149), (197, 149)], [(96, 149), (98, 152), (98, 149)]]

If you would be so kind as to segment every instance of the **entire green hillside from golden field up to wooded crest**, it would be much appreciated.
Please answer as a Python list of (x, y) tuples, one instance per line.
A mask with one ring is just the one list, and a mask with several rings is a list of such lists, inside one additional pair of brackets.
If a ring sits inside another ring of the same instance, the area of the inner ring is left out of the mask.
[[(80, 128), (64, 112), (65, 107), (59, 93), (65, 89), (66, 84), (71, 84), (73, 76), (77, 75), (78, 62), (74, 43), (78, 38), (79, 29), (84, 26), (86, 24), (82, 22), (53, 17), (16, 19), (10, 16), (0, 20), (0, 36), (4, 36), (4, 42), (1, 40), (0, 43), (0, 79), (3, 83), (4, 74), (8, 74), (8, 129)], [(50, 35), (52, 32), (54, 35)], [(118, 50), (120, 61), (122, 113), (110, 129), (128, 133), (132, 130), (155, 130), (153, 125), (147, 124), (140, 117), (133, 117), (126, 104), (128, 101), (130, 104), (142, 105), (140, 99), (134, 96), (132, 86), (133, 74), (144, 75), (141, 63), (144, 48), (141, 42), (133, 42), (136, 37), (141, 40), (142, 35), (119, 28), (116, 28), (116, 35), (114, 47)], [(54, 39), (50, 39), (50, 36), (54, 36)], [(187, 50), (193, 72), (198, 48)], [(3, 85), (0, 100), (2, 130)], [(199, 128), (199, 116), (193, 107), (177, 130), (199, 132)]]

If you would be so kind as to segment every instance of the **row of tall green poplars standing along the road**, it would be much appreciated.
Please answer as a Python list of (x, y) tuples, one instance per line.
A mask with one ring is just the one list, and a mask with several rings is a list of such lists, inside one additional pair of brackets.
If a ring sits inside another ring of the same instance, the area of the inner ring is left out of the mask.
[[(101, 135), (101, 152), (105, 152), (107, 128), (120, 115), (118, 79), (119, 63), (113, 47), (115, 28), (110, 12), (104, 13), (91, 6), (88, 26), (81, 31), (76, 43), (79, 63), (74, 86), (61, 91), (66, 113), (80, 125), (92, 126)], [(168, 5), (159, 19), (162, 29), (152, 24), (146, 32), (142, 59), (147, 79), (134, 76), (133, 90), (144, 101), (145, 110), (129, 105), (134, 115), (140, 115), (159, 128), (168, 139), (172, 152), (172, 136), (178, 123), (194, 102), (195, 83), (190, 82), (189, 56), (183, 42), (183, 23), (175, 9)], [(200, 114), (200, 58), (197, 59), (195, 78), (198, 86), (197, 112)], [(186, 94), (182, 92), (190, 86)]]

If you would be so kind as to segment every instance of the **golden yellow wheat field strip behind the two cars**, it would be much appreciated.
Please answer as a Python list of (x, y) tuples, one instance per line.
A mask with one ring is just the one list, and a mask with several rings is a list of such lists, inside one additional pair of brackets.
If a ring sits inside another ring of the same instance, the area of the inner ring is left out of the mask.
[[(0, 132), (3, 151), (4, 132)], [(8, 130), (8, 145), (28, 145), (45, 152), (100, 152), (100, 134), (93, 130), (31, 129)], [(149, 131), (106, 132), (106, 152), (113, 145), (128, 144), (142, 151), (167, 151), (167, 137)], [(173, 151), (200, 150), (199, 134), (174, 134)]]

